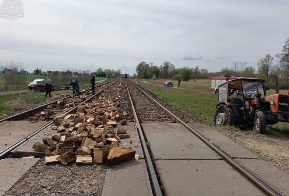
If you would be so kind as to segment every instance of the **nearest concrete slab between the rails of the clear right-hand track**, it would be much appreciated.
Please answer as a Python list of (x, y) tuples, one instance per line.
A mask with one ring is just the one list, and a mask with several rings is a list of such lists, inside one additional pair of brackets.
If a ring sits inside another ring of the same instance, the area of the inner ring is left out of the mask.
[(159, 160), (156, 167), (170, 195), (265, 195), (223, 160)]

